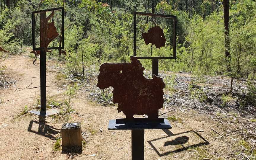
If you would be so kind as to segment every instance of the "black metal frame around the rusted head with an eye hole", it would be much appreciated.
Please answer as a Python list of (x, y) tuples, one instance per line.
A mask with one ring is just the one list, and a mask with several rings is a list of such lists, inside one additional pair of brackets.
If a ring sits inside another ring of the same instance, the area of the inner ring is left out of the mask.
[(153, 14), (145, 12), (133, 12), (133, 56), (136, 56), (136, 14), (151, 17), (166, 17), (173, 19), (173, 56), (172, 57), (138, 57), (138, 59), (176, 59), (176, 40), (177, 40), (177, 16), (166, 14)]

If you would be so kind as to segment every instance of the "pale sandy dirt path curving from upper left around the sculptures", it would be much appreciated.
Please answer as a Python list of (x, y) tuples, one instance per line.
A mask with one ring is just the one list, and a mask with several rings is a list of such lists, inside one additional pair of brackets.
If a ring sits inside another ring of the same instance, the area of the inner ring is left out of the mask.
[[(53, 151), (55, 138), (60, 137), (60, 129), (65, 120), (47, 117), (48, 123), (43, 125), (38, 123), (36, 115), (20, 115), (25, 105), (29, 109), (33, 108), (40, 96), (40, 68), (32, 62), (26, 56), (12, 56), (4, 62), (8, 69), (5, 74), (13, 76), (17, 84), (0, 90), (0, 98), (4, 100), (0, 104), (0, 159), (131, 159), (131, 131), (107, 129), (108, 121), (124, 117), (122, 113), (117, 113), (116, 106), (105, 107), (92, 102), (87, 98), (89, 93), (83, 89), (79, 90), (71, 102), (76, 111), (71, 115), (72, 121), (81, 122), (85, 133), (83, 152), (62, 154), (61, 151)], [(59, 87), (56, 79), (59, 71), (53, 67), (55, 63), (47, 61), (47, 97), (63, 101), (65, 86)], [(39, 61), (36, 65), (39, 65)], [(167, 110), (163, 108), (160, 112)], [(171, 115), (177, 117), (177, 120), (171, 122), (172, 129), (145, 130), (145, 159), (236, 159), (238, 139), (216, 138), (219, 135), (210, 129), (225, 127), (224, 124), (218, 124), (220, 122), (212, 117), (194, 110), (188, 114), (176, 110), (164, 117)], [(99, 128), (103, 128), (103, 132)], [(93, 154), (96, 156), (88, 156)]]

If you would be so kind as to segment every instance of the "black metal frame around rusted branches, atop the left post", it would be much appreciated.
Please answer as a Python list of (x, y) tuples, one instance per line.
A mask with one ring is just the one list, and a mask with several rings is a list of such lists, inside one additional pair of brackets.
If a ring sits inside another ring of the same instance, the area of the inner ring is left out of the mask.
[[(62, 10), (62, 25), (61, 25), (62, 46), (61, 47), (36, 48), (35, 14), (41, 13), (41, 12), (57, 11), (57, 10)], [(44, 10), (32, 12), (32, 46), (33, 46), (33, 50), (64, 49), (64, 7), (44, 9)]]

